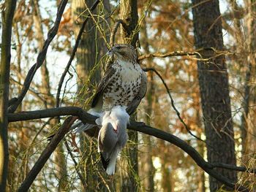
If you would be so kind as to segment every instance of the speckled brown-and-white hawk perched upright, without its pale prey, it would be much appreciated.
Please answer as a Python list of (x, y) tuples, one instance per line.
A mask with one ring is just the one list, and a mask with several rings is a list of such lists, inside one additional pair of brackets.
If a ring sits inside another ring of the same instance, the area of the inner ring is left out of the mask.
[[(146, 74), (138, 64), (137, 52), (132, 45), (115, 45), (108, 51), (108, 55), (113, 55), (114, 61), (99, 82), (89, 113), (99, 117), (101, 112), (120, 105), (127, 107), (127, 112), (131, 115), (146, 94)], [(76, 132), (85, 131), (89, 134), (89, 129), (94, 127), (78, 121), (71, 129), (76, 128)], [(89, 135), (95, 136), (93, 134)]]

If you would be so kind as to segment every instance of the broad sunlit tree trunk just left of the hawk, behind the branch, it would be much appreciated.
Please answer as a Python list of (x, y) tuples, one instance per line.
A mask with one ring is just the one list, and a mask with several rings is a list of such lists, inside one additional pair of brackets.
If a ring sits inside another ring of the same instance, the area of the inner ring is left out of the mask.
[[(75, 31), (75, 37), (77, 37), (80, 30), (80, 26), (85, 20), (85, 15), (88, 14), (86, 6), (91, 7), (94, 0), (73, 0), (72, 1), (72, 20)], [(86, 12), (86, 14), (82, 14)], [(99, 82), (100, 70), (97, 69), (94, 74), (90, 74), (91, 70), (99, 61), (101, 53), (102, 42), (98, 37), (94, 28), (93, 20), (89, 19), (86, 23), (85, 33), (83, 33), (80, 44), (78, 45), (78, 51), (76, 53), (77, 65), (76, 71), (78, 73), (78, 102), (83, 106), (89, 107), (89, 98), (93, 93), (93, 85)], [(97, 40), (96, 40), (97, 38)], [(86, 158), (85, 162), (81, 163), (82, 173), (86, 178), (86, 189), (82, 186), (82, 191), (105, 191), (104, 185), (101, 183), (97, 169), (101, 166), (96, 164), (94, 160), (97, 159), (97, 146), (93, 145), (90, 138), (80, 135), (80, 150)], [(96, 166), (99, 166), (96, 169)]]

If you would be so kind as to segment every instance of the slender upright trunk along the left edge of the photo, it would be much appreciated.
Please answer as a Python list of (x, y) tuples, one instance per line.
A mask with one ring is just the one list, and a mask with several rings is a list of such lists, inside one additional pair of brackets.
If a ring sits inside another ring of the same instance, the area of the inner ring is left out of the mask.
[(2, 11), (1, 66), (0, 66), (0, 191), (6, 191), (8, 174), (8, 120), (7, 107), (10, 85), (10, 59), (12, 39), (12, 18), (16, 1), (6, 0)]

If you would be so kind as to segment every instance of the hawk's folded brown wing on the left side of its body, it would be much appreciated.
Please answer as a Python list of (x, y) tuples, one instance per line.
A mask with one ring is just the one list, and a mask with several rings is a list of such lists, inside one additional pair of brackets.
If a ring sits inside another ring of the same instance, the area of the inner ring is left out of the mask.
[(95, 108), (96, 110), (102, 109), (102, 96), (105, 91), (105, 88), (108, 86), (108, 84), (113, 80), (113, 76), (116, 73), (116, 69), (114, 69), (112, 66), (108, 68), (108, 71), (105, 73), (104, 77), (102, 77), (102, 80), (99, 82), (99, 85), (97, 87), (97, 91), (95, 93), (94, 99), (92, 100), (91, 107)]

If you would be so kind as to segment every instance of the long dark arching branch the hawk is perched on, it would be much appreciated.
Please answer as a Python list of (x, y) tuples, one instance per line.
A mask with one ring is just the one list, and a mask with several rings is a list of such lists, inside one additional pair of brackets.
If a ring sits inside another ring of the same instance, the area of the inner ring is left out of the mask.
[[(34, 120), (37, 118), (50, 118), (53, 116), (60, 116), (60, 115), (75, 115), (75, 116), (78, 116), (83, 123), (90, 123), (94, 125), (96, 124), (95, 120), (97, 119), (97, 117), (90, 115), (86, 111), (82, 110), (80, 107), (59, 107), (59, 108), (53, 108), (49, 110), (19, 112), (15, 114), (9, 114), (8, 119), (9, 119), (9, 122), (14, 122), (19, 120)], [(190, 155), (192, 159), (195, 161), (195, 163), (198, 166), (200, 166), (205, 172), (210, 174), (212, 177), (216, 178), (217, 180), (229, 186), (230, 188), (236, 187), (236, 189), (238, 189), (239, 191), (249, 191), (244, 186), (236, 185), (236, 183), (229, 180), (227, 177), (222, 176), (222, 174), (219, 174), (216, 170), (214, 170), (214, 168), (222, 167), (223, 169), (232, 169), (232, 170), (241, 171), (241, 172), (249, 171), (252, 173), (255, 173), (256, 169), (247, 169), (246, 167), (230, 166), (229, 164), (208, 163), (201, 157), (201, 155), (197, 152), (197, 150), (195, 150), (195, 148), (188, 145), (187, 142), (184, 142), (182, 139), (179, 139), (173, 134), (169, 134), (157, 128), (152, 128), (151, 126), (146, 126), (145, 123), (131, 122), (128, 128), (134, 131), (140, 131), (144, 134), (157, 137), (159, 139), (163, 139), (167, 142), (172, 143), (173, 145), (176, 145), (177, 147), (181, 148), (181, 150), (184, 150), (188, 155)]]

